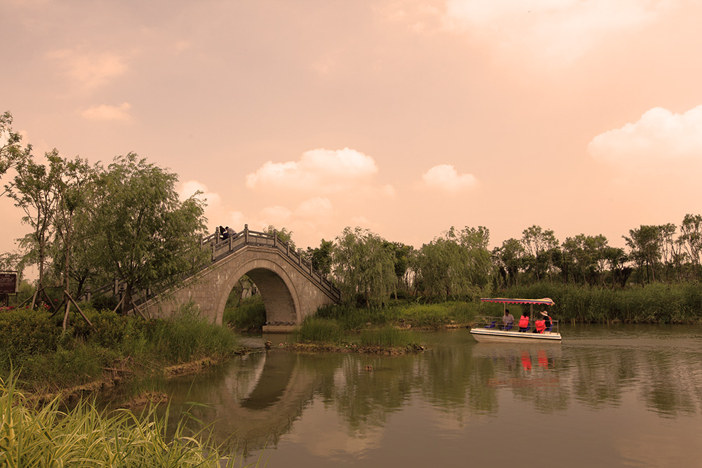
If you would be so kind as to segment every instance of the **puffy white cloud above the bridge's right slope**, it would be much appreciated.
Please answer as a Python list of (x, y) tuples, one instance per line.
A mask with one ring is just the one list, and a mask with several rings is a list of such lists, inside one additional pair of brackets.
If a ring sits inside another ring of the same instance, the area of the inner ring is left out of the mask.
[(299, 161), (267, 161), (258, 171), (246, 175), (250, 189), (293, 189), (334, 193), (368, 185), (378, 172), (376, 162), (355, 149), (312, 149)]

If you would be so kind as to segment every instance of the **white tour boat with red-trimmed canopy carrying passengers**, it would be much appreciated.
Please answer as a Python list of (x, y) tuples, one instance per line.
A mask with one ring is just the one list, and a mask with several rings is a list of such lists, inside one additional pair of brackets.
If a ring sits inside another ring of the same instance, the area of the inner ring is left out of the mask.
[[(511, 325), (504, 326), (502, 317), (479, 316), (476, 317), (476, 326), (470, 329), (470, 334), (475, 340), (487, 343), (524, 343), (524, 342), (561, 342), (561, 334), (558, 333), (558, 321), (551, 319), (551, 326), (543, 330), (542, 333), (534, 333), (534, 305), (549, 306), (554, 302), (548, 297), (543, 299), (509, 299), (506, 297), (483, 297), (482, 302), (500, 302), (508, 304), (529, 305), (529, 326), (526, 329), (519, 328), (519, 317), (515, 316), (515, 321)], [(538, 314), (539, 312), (537, 312)], [(543, 315), (543, 314), (541, 314)]]

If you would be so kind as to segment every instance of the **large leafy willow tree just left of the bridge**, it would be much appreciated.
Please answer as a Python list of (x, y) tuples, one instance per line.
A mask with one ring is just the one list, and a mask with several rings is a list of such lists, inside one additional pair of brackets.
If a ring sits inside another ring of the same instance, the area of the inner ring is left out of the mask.
[(126, 283), (126, 306), (138, 290), (176, 283), (208, 258), (199, 246), (204, 204), (195, 196), (180, 201), (177, 181), (134, 153), (117, 156), (97, 178), (95, 241), (102, 268)]

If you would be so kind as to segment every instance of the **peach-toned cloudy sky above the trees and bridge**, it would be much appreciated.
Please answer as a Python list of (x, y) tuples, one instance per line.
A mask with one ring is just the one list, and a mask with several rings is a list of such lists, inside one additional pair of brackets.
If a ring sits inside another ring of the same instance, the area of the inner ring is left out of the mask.
[[(0, 112), (34, 156), (135, 152), (208, 227), (420, 248), (702, 213), (702, 2), (0, 0)], [(5, 184), (11, 175), (0, 181)], [(0, 252), (29, 232), (0, 199)]]

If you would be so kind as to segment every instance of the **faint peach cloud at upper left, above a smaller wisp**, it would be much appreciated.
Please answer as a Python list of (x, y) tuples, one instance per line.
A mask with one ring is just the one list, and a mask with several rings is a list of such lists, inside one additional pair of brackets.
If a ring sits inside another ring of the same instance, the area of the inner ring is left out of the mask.
[(121, 74), (128, 67), (125, 58), (114, 53), (84, 53), (79, 50), (60, 49), (48, 54), (60, 60), (69, 76), (88, 89), (98, 88)]

